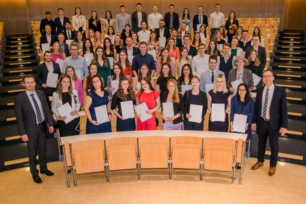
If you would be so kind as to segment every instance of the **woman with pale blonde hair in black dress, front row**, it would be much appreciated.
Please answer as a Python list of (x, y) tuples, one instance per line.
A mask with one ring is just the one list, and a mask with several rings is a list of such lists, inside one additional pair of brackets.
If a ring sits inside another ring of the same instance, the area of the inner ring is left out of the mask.
[(225, 109), (224, 121), (212, 121), (212, 115), (210, 114), (208, 121), (208, 131), (228, 132), (229, 117), (227, 113), (230, 111), (231, 100), (231, 93), (226, 89), (225, 76), (223, 74), (218, 74), (213, 83), (213, 90), (208, 92), (207, 104), (208, 110), (211, 113), (213, 103), (223, 103)]

